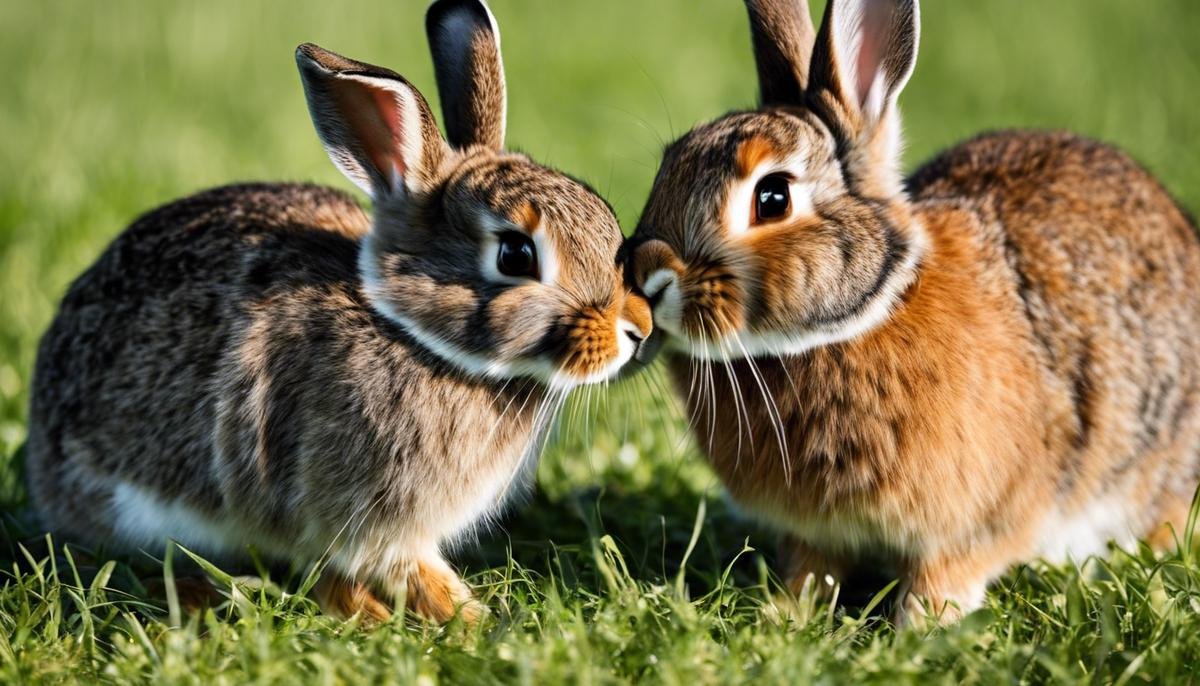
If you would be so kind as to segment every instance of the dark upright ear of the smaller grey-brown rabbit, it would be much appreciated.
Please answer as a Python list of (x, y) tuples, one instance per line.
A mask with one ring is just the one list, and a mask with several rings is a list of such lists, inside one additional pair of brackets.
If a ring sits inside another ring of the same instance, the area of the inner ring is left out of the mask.
[(450, 144), (504, 148), (504, 64), (491, 10), (482, 0), (437, 0), (425, 30)]

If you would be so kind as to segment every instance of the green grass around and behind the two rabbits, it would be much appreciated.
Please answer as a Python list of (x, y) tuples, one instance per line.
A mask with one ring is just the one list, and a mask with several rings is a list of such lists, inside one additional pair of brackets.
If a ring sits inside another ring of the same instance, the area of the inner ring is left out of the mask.
[[(494, 0), (510, 143), (605, 193), (631, 227), (665, 140), (750, 106), (734, 0)], [(816, 2), (820, 5), (820, 2)], [(492, 609), (474, 631), (338, 624), (305, 570), (230, 579), (179, 610), (190, 559), (115, 564), (28, 528), (19, 446), (56, 300), (137, 213), (205, 186), (346, 188), (317, 144), (292, 50), (314, 41), (431, 98), (425, 2), (0, 2), (0, 682), (1196, 682), (1190, 538), (1088, 573), (1014, 570), (935, 632), (786, 601), (768, 531), (737, 517), (661, 377), (581, 397), (504, 526), (456, 556)], [(928, 2), (902, 98), (908, 166), (973, 132), (1069, 127), (1118, 143), (1200, 209), (1200, 4)]]

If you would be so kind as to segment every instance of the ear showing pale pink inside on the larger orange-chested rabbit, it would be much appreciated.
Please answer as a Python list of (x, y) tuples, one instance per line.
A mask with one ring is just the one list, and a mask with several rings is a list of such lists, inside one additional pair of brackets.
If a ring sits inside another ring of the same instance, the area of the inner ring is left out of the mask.
[(919, 35), (917, 0), (829, 0), (809, 92), (834, 98), (850, 120), (847, 133), (870, 134), (912, 76)]

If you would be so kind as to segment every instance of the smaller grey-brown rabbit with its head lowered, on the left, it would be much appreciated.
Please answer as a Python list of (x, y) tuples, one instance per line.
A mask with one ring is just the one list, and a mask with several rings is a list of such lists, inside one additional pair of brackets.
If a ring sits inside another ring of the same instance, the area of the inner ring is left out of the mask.
[(296, 49), (332, 162), (373, 201), (240, 185), (151, 211), (70, 288), (38, 349), (28, 485), (43, 524), (328, 560), (338, 615), (482, 606), (443, 552), (530, 477), (564, 396), (649, 335), (608, 205), (503, 151), (481, 0), (426, 17), (446, 137), (401, 76)]

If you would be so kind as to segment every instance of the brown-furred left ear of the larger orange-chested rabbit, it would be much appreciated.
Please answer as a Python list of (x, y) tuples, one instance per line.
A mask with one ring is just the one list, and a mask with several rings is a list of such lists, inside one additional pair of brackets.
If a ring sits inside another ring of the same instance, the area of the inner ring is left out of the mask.
[(745, 0), (745, 4), (762, 106), (799, 104), (816, 38), (809, 1)]

